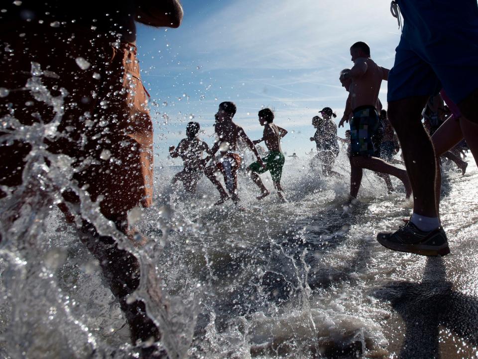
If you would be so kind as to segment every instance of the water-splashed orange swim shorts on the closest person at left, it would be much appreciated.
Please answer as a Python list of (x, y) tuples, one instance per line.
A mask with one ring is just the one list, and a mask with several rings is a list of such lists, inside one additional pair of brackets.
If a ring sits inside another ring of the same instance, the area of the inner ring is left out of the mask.
[[(52, 106), (21, 90), (32, 77), (32, 62), (38, 63), (41, 81), (53, 96), (62, 88), (68, 92), (58, 136), (44, 141), (48, 151), (73, 158), (73, 179), (93, 200), (103, 198), (106, 217), (125, 218), (127, 210), (149, 206), (153, 129), (136, 47), (80, 25), (0, 30), (0, 87), (9, 90), (0, 97), (0, 118), (9, 114), (23, 125), (52, 121)], [(4, 134), (0, 129), (0, 139)], [(0, 144), (0, 185), (21, 183), (30, 149), (26, 139)], [(64, 197), (78, 201), (68, 190)]]

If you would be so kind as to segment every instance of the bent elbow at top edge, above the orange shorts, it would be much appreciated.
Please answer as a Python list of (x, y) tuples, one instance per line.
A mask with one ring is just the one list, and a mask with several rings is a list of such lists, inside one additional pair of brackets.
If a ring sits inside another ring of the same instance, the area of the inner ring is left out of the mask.
[(145, 25), (179, 27), (183, 8), (179, 0), (136, 0), (135, 20)]

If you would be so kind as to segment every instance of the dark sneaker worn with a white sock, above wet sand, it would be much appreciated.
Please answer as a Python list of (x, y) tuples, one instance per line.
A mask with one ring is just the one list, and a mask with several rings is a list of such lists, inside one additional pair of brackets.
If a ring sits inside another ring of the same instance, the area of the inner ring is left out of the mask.
[(377, 241), (382, 246), (399, 252), (425, 256), (444, 256), (450, 253), (447, 235), (441, 226), (424, 232), (412, 222), (408, 222), (401, 225), (395, 233), (378, 233)]

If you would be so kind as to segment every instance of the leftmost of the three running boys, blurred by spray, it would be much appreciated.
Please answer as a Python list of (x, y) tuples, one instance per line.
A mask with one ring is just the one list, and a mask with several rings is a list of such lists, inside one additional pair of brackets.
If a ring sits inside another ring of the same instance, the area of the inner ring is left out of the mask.
[(181, 157), (184, 162), (184, 170), (174, 175), (172, 183), (182, 181), (184, 189), (190, 193), (196, 191), (196, 185), (201, 178), (204, 169), (203, 152), (211, 154), (206, 142), (201, 141), (196, 135), (199, 132), (199, 124), (190, 122), (186, 127), (186, 138), (179, 142), (177, 148), (171, 146), (169, 154), (172, 158)]

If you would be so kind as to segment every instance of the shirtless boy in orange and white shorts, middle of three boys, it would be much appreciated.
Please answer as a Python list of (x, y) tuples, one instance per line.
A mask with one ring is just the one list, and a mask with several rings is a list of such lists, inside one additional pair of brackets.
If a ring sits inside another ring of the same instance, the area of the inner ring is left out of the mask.
[(259, 153), (252, 141), (247, 137), (244, 130), (233, 122), (233, 117), (236, 114), (236, 105), (233, 102), (222, 102), (219, 104), (219, 110), (216, 114), (216, 124), (214, 131), (216, 132), (216, 142), (211, 149), (211, 155), (206, 158), (205, 162), (209, 162), (211, 158), (220, 151), (219, 159), (213, 165), (204, 170), (206, 176), (218, 188), (221, 198), (215, 204), (224, 203), (230, 198), (223, 185), (218, 179), (218, 171), (223, 175), (226, 188), (228, 189), (231, 199), (235, 204), (239, 204), (238, 196), (238, 170), (241, 158), (237, 151), (238, 141), (241, 138), (247, 147), (254, 153), (257, 162), (261, 167), (265, 167), (260, 159)]

